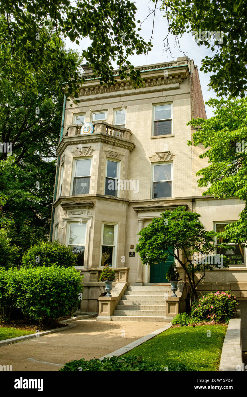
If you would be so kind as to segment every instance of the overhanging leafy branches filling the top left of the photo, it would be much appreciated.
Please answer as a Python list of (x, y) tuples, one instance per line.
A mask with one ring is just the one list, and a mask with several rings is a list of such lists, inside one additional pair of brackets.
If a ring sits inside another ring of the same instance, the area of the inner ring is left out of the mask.
[[(116, 61), (121, 78), (130, 77), (139, 86), (140, 71), (134, 69), (128, 56), (146, 53), (150, 45), (136, 32), (135, 13), (134, 3), (125, 0), (2, 1), (0, 41), (3, 47), (10, 43), (6, 51), (12, 59), (11, 69), (4, 64), (3, 73), (13, 86), (32, 91), (32, 73), (48, 87), (59, 87), (63, 77), (66, 94), (78, 98), (83, 74), (71, 58), (66, 58), (61, 39), (69, 37), (80, 44), (81, 39), (88, 38), (91, 44), (82, 50), (82, 57), (92, 65), (93, 76), (100, 75), (101, 84), (115, 81), (112, 62)], [(55, 33), (55, 45), (49, 41), (48, 26)]]

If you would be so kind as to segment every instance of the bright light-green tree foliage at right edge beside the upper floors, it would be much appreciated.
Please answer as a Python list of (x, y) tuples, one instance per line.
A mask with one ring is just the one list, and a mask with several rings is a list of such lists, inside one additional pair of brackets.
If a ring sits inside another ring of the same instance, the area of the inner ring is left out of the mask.
[[(202, 143), (206, 150), (201, 158), (209, 166), (197, 172), (199, 187), (207, 187), (203, 195), (218, 198), (237, 197), (245, 201), (239, 220), (226, 225), (220, 237), (230, 243), (247, 241), (247, 98), (237, 100), (210, 99), (214, 116), (192, 119), (188, 124), (201, 128), (193, 133), (193, 144)], [(188, 142), (191, 145), (191, 141)]]

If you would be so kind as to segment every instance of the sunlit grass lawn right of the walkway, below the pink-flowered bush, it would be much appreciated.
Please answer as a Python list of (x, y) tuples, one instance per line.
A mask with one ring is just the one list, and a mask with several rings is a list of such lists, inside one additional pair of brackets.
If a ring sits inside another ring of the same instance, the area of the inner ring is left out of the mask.
[(218, 371), (226, 329), (222, 325), (169, 328), (124, 356), (142, 356), (168, 368), (180, 363), (196, 371)]

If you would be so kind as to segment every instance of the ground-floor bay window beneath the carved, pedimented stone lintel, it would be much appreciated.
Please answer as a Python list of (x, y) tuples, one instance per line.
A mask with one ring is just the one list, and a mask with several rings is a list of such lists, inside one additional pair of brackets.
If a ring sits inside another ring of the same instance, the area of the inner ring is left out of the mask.
[(79, 221), (69, 224), (68, 247), (72, 247), (74, 254), (78, 255), (77, 266), (84, 266), (84, 252), (86, 245), (87, 222)]

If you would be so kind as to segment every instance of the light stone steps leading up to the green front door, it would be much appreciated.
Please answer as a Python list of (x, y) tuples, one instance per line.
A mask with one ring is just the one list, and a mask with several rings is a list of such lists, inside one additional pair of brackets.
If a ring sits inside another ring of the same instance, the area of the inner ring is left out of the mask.
[(165, 297), (170, 284), (127, 287), (111, 316), (112, 321), (168, 321)]

